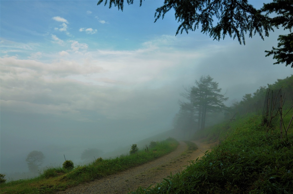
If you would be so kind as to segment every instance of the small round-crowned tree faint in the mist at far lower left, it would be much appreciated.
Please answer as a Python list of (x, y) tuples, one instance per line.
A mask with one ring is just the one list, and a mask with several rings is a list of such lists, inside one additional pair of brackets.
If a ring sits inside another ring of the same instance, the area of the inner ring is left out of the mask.
[(42, 165), (45, 159), (44, 154), (41, 151), (31, 151), (26, 157), (25, 161), (28, 163), (28, 169), (30, 172), (38, 172), (39, 167)]

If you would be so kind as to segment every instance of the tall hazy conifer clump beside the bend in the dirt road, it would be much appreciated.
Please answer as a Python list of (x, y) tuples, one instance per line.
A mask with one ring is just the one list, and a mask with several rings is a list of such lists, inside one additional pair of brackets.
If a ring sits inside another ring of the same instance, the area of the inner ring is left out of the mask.
[(200, 80), (195, 80), (196, 86), (185, 89), (185, 93), (180, 95), (186, 98), (187, 102), (181, 102), (180, 110), (173, 120), (175, 129), (190, 131), (204, 129), (208, 113), (221, 112), (226, 110), (225, 98), (220, 94), (219, 83), (213, 82), (209, 75), (201, 76)]

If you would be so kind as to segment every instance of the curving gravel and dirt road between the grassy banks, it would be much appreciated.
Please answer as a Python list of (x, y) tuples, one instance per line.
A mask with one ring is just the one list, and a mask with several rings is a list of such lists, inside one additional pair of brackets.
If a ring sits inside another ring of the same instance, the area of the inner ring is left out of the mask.
[(186, 165), (190, 164), (189, 161), (196, 160), (197, 157), (202, 157), (207, 150), (217, 145), (217, 143), (205, 144), (199, 141), (195, 141), (194, 143), (197, 144), (198, 149), (192, 153), (182, 155), (187, 150), (187, 146), (184, 142), (180, 142), (175, 151), (147, 164), (142, 164), (124, 172), (68, 188), (65, 191), (58, 192), (58, 194), (121, 194), (136, 191), (139, 186), (147, 188), (152, 184), (161, 183), (163, 178), (170, 176), (171, 172), (172, 174), (176, 174), (182, 171)]

